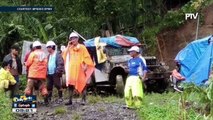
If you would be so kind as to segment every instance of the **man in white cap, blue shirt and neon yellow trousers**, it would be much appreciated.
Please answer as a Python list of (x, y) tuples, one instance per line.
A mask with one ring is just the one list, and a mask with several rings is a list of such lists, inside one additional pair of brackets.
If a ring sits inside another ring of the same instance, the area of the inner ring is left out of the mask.
[(132, 58), (128, 61), (129, 76), (124, 88), (124, 97), (127, 108), (139, 108), (142, 105), (142, 81), (146, 78), (147, 68), (139, 57), (139, 47), (133, 46), (128, 51)]

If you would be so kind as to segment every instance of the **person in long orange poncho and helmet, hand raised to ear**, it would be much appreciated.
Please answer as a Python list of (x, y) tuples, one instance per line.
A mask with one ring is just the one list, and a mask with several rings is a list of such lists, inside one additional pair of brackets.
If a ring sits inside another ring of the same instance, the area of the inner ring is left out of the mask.
[(72, 104), (73, 91), (82, 93), (82, 104), (86, 102), (86, 84), (94, 71), (93, 61), (82, 44), (78, 43), (79, 36), (72, 32), (67, 48), (62, 53), (65, 63), (66, 86), (69, 88), (69, 101)]

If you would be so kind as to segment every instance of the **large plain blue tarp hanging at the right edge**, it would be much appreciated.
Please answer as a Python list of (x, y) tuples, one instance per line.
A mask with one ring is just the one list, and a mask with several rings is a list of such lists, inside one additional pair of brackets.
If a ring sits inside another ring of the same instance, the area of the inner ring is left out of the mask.
[(213, 35), (189, 43), (176, 56), (186, 82), (202, 85), (208, 80), (213, 57)]

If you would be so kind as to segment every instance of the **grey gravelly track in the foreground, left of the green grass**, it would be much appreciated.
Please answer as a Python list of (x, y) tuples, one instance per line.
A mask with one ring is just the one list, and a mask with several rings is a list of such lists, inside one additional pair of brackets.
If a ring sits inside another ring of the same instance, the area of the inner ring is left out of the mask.
[(20, 120), (137, 120), (136, 111), (124, 109), (122, 98), (89, 96), (86, 105), (79, 99), (65, 106), (52, 102), (48, 107), (39, 104), (35, 114), (18, 114)]

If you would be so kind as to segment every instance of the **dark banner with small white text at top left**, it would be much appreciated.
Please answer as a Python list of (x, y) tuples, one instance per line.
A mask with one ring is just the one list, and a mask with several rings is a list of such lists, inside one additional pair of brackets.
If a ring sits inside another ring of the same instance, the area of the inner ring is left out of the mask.
[(0, 12), (53, 12), (49, 6), (0, 6)]

